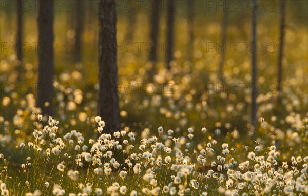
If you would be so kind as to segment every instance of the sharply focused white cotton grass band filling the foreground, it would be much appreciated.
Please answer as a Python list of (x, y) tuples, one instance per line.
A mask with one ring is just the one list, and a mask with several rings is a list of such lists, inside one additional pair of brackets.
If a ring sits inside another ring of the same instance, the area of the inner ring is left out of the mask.
[[(40, 123), (41, 115), (34, 121)], [(95, 117), (98, 131), (105, 122)], [(302, 124), (304, 122), (297, 122)], [(305, 120), (307, 124), (307, 120)], [(31, 140), (15, 146), (21, 165), (1, 154), (2, 195), (305, 195), (308, 156), (296, 156), (254, 141), (251, 146), (218, 144), (206, 128), (188, 128), (183, 135), (159, 127), (157, 133), (124, 129), (85, 140), (76, 130), (58, 136), (59, 121), (35, 129)], [(201, 132), (203, 140), (194, 140)], [(306, 143), (304, 125), (286, 135), (292, 143)], [(296, 136), (294, 136), (296, 135)], [(179, 136), (179, 137), (177, 137)], [(233, 138), (236, 136), (233, 135)], [(10, 142), (9, 135), (2, 135)], [(30, 142), (31, 141), (31, 142)], [(300, 146), (300, 144), (298, 144)], [(284, 148), (288, 148), (285, 146)], [(300, 146), (303, 147), (303, 146)], [(214, 150), (215, 149), (215, 150)], [(237, 152), (239, 151), (239, 152)], [(291, 158), (290, 158), (291, 156)]]

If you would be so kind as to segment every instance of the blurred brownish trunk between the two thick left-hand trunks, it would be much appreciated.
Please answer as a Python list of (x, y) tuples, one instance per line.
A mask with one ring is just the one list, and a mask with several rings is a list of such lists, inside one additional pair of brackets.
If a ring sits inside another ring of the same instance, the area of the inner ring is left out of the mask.
[(75, 62), (81, 63), (82, 28), (83, 28), (83, 0), (76, 0), (76, 34), (75, 34)]

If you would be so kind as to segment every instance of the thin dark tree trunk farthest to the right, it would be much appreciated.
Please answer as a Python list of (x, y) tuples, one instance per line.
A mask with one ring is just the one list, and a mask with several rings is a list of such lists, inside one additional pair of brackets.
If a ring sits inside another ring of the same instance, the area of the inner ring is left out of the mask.
[(278, 81), (277, 81), (277, 90), (278, 90), (278, 104), (280, 103), (281, 97), (281, 80), (282, 80), (282, 58), (283, 58), (283, 46), (284, 46), (284, 15), (285, 15), (285, 1), (281, 0), (281, 10), (280, 10), (280, 48), (278, 53)]

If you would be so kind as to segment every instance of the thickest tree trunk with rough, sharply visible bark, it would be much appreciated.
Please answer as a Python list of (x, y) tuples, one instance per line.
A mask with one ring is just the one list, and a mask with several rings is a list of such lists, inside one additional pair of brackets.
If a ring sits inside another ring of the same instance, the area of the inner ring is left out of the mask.
[(115, 0), (100, 0), (98, 115), (111, 135), (120, 129), (116, 23)]

